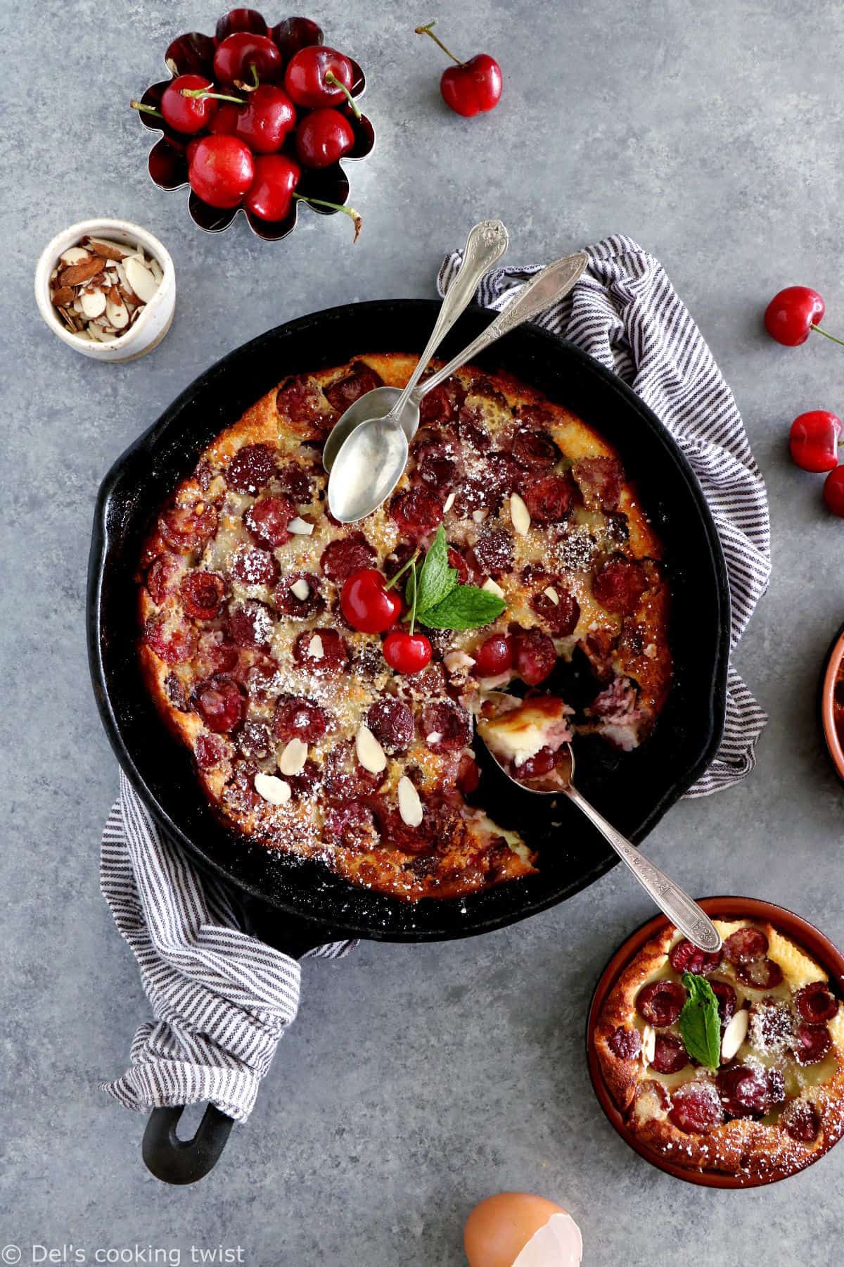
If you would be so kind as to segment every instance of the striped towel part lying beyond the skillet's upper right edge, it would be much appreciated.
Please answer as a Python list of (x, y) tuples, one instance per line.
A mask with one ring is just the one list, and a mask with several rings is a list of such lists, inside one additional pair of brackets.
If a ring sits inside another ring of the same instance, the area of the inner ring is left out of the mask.
[[(731, 650), (771, 578), (771, 527), (764, 481), (742, 414), (704, 336), (654, 256), (628, 237), (586, 247), (590, 264), (573, 291), (538, 324), (593, 356), (629, 383), (672, 433), (700, 480), (721, 538), (730, 582)], [(439, 293), (461, 265), (443, 261)], [(478, 303), (500, 312), (542, 265), (497, 269), (478, 288)], [(738, 783), (755, 765), (767, 716), (733, 666), (726, 726), (719, 753), (686, 793), (706, 796)]]

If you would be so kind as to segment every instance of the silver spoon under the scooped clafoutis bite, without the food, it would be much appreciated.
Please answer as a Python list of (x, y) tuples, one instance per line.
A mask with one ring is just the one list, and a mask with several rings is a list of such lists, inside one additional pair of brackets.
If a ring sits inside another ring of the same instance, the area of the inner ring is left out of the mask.
[[(483, 723), (481, 722), (478, 726), (481, 739), (483, 739), (482, 726)], [(717, 953), (721, 949), (721, 935), (706, 911), (680, 884), (676, 884), (654, 863), (644, 858), (638, 849), (634, 849), (630, 841), (620, 831), (616, 831), (612, 824), (607, 822), (604, 815), (599, 813), (595, 806), (590, 805), (586, 797), (577, 791), (572, 783), (574, 753), (571, 744), (566, 744), (564, 748), (568, 760), (563, 760), (561, 765), (554, 767), (544, 779), (531, 779), (530, 783), (521, 783), (519, 779), (514, 779), (512, 774), (501, 764), (492, 749), (487, 746), (487, 751), (510, 782), (515, 783), (523, 791), (534, 792), (539, 796), (559, 796), (562, 792), (563, 796), (567, 796), (586, 815), (590, 822), (597, 827), (607, 844), (615, 849), (621, 862), (633, 872), (652, 901), (659, 907), (663, 915), (668, 916), (674, 927), (701, 950)]]

